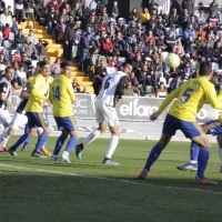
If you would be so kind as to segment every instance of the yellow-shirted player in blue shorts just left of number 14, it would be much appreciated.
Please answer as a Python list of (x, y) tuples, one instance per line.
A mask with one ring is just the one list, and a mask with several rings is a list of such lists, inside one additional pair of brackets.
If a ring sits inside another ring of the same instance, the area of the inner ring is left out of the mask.
[(28, 128), (31, 130), (36, 128), (42, 128), (43, 132), (38, 138), (36, 149), (33, 150), (31, 157), (33, 158), (46, 158), (46, 155), (40, 154), (40, 150), (46, 143), (51, 129), (49, 127), (49, 121), (43, 112), (43, 103), (49, 99), (49, 75), (50, 75), (50, 64), (47, 61), (39, 62), (40, 73), (36, 75), (30, 90), (30, 97), (27, 104), (27, 118)]

